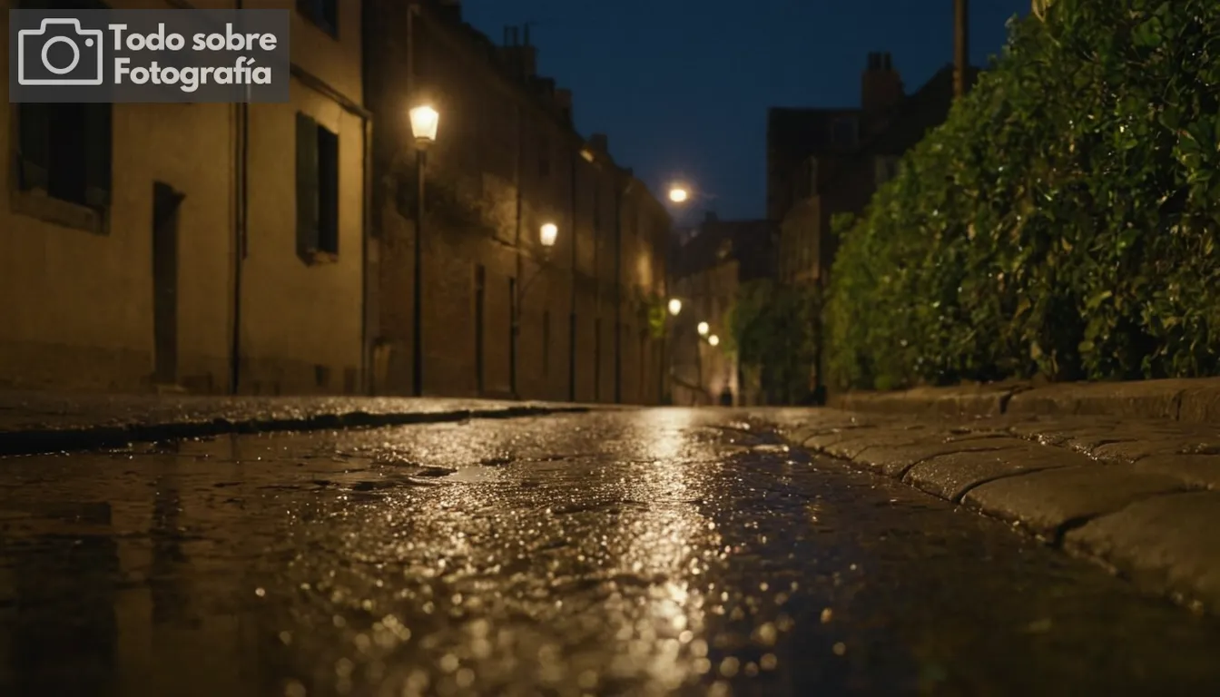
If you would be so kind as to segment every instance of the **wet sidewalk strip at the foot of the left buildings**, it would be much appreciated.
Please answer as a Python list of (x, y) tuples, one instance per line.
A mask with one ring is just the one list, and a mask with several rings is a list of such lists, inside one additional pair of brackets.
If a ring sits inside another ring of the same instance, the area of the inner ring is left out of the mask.
[(588, 411), (545, 402), (0, 392), (0, 455), (257, 431), (312, 431)]

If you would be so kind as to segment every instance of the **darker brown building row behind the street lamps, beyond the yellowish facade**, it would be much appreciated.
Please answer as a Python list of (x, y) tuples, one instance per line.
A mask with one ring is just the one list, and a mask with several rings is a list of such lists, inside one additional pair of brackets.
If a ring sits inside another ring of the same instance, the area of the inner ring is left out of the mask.
[[(572, 95), (537, 74), (528, 28), (494, 44), (456, 2), (370, 10), (376, 393), (658, 402), (648, 312), (665, 297), (665, 209), (604, 135), (576, 132)], [(420, 104), (440, 115), (422, 166), (407, 117)]]

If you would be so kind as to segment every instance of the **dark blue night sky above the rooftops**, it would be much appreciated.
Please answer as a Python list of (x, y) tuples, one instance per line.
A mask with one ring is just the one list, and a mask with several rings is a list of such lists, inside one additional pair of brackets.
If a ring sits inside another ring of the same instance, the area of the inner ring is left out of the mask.
[[(930, 9), (931, 7), (931, 9)], [(953, 61), (953, 0), (465, 0), (500, 43), (531, 23), (539, 73), (575, 93), (582, 134), (659, 195), (672, 178), (703, 210), (761, 217), (769, 106), (858, 106), (869, 51), (889, 51), (906, 92)], [(972, 0), (971, 61), (986, 65), (1030, 0)]]

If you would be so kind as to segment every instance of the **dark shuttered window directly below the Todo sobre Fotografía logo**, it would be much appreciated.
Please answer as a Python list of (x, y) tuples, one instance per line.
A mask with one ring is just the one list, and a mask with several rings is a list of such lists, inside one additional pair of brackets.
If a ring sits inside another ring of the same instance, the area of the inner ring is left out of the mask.
[(52, 199), (110, 205), (111, 105), (20, 104), (18, 184)]

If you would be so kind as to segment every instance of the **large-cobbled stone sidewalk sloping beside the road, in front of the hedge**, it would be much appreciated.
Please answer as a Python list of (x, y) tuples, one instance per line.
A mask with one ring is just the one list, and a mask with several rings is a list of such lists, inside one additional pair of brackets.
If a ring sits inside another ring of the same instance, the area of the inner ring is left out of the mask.
[[(1010, 521), (1220, 614), (1220, 427), (1006, 414), (781, 410), (786, 439)], [(764, 416), (776, 421), (777, 414)]]

